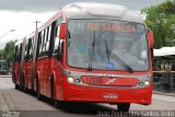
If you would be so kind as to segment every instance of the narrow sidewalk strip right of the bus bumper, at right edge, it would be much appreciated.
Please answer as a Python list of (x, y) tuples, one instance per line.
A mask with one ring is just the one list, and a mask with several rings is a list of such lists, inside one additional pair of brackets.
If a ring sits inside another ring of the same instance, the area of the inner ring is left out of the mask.
[(153, 94), (174, 96), (175, 97), (175, 91), (153, 90)]

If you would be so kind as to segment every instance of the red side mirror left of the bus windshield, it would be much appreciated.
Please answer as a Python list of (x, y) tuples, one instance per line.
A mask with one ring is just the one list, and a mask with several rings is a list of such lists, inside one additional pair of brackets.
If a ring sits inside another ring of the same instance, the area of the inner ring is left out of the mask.
[(66, 23), (61, 23), (60, 25), (60, 30), (59, 30), (59, 38), (65, 39), (67, 36), (67, 24)]

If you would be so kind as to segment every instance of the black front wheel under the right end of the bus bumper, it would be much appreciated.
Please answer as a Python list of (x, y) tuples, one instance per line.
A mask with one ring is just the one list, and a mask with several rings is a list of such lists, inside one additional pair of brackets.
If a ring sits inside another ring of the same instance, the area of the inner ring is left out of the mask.
[(118, 103), (117, 108), (119, 112), (128, 112), (130, 108), (130, 103)]

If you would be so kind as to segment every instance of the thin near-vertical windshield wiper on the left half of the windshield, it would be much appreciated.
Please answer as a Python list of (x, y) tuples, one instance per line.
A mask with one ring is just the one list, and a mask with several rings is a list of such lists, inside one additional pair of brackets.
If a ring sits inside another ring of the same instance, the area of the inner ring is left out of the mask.
[(92, 59), (94, 57), (94, 47), (95, 47), (95, 31), (94, 31), (94, 35), (93, 35), (92, 49), (91, 49), (91, 52), (90, 52), (90, 61), (89, 61), (88, 71), (92, 70)]

